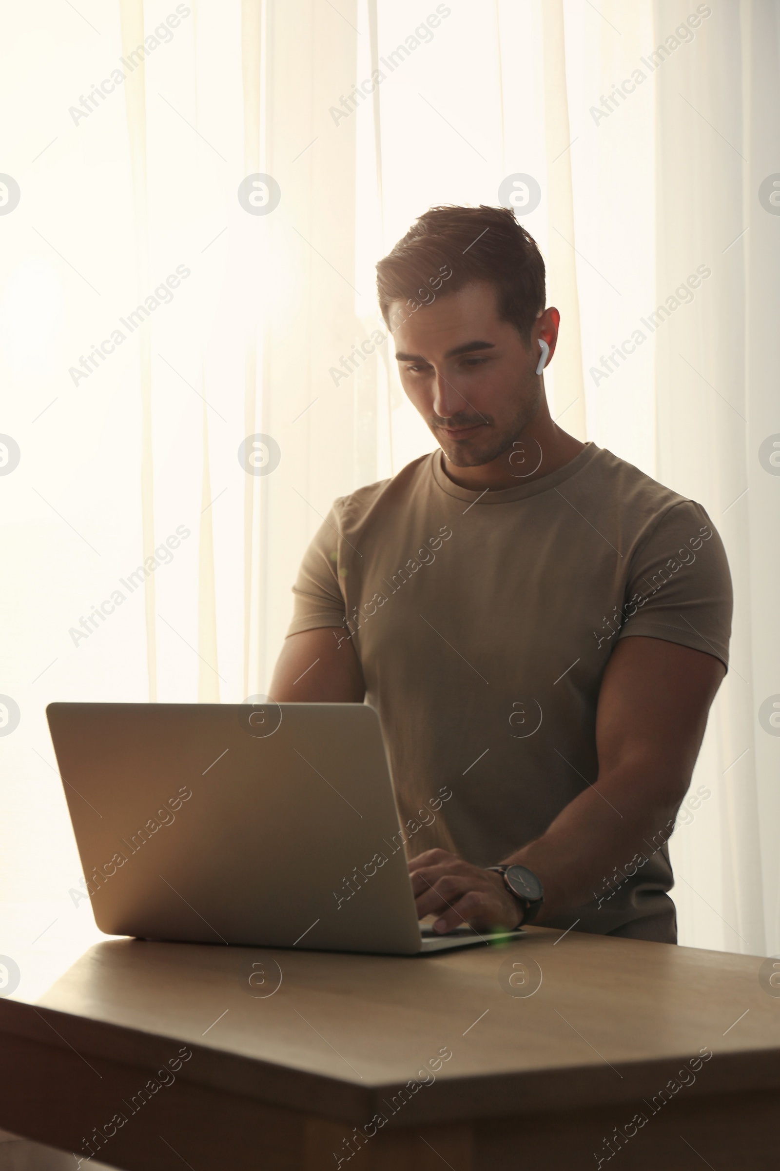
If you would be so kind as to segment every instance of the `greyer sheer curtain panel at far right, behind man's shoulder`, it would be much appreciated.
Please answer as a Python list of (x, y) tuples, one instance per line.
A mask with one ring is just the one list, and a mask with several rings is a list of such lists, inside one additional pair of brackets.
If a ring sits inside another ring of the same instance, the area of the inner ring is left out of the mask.
[[(771, 190), (780, 180), (780, 9), (711, 8), (696, 42), (658, 69), (656, 301), (700, 263), (712, 275), (658, 329), (657, 474), (718, 527), (734, 626), (693, 779), (712, 799), (672, 843), (686, 938), (760, 954), (780, 947), (780, 728), (768, 719), (780, 699), (780, 480), (768, 458), (780, 439), (780, 197), (762, 194), (767, 177)], [(660, 4), (656, 43), (686, 14)]]

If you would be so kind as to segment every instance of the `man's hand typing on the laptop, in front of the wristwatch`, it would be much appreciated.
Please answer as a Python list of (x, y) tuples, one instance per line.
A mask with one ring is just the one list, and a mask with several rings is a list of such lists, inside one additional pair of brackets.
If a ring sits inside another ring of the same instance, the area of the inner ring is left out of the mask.
[(447, 850), (426, 850), (409, 862), (417, 918), (439, 915), (434, 931), (468, 923), (477, 931), (512, 931), (523, 909), (493, 870), (483, 870)]

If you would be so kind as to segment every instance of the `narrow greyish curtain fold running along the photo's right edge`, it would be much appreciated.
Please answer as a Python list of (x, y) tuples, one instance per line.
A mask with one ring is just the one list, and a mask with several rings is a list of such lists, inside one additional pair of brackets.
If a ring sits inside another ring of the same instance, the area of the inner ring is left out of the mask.
[[(750, 616), (761, 884), (766, 950), (780, 952), (780, 9), (771, 0), (741, 0), (745, 200), (746, 487), (750, 507)], [(774, 193), (774, 200), (772, 194)], [(734, 504), (733, 512), (741, 507)], [(774, 714), (774, 723), (772, 721)], [(758, 715), (758, 720), (757, 720)]]

